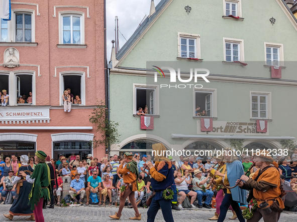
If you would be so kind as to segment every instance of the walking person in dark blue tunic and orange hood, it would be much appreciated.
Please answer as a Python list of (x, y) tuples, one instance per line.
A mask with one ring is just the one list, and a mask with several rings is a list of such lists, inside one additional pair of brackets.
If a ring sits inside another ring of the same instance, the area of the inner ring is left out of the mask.
[(171, 199), (173, 197), (171, 185), (174, 181), (174, 171), (171, 161), (163, 155), (163, 151), (166, 151), (165, 146), (162, 143), (157, 143), (152, 145), (152, 148), (153, 154), (155, 154), (155, 166), (151, 162), (148, 162), (146, 165), (150, 169), (149, 172), (152, 176), (151, 186), (155, 194), (153, 194), (147, 211), (147, 222), (155, 220), (160, 207), (164, 220), (172, 222), (174, 220), (171, 211)]

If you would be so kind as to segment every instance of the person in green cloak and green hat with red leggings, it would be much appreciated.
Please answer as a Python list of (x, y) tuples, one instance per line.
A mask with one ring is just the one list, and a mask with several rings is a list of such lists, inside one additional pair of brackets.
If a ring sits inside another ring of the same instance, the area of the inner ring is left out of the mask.
[(45, 163), (46, 154), (43, 151), (37, 151), (35, 153), (35, 162), (38, 163), (35, 166), (33, 173), (27, 175), (24, 171), (19, 173), (22, 176), (26, 176), (26, 180), (29, 183), (33, 183), (32, 190), (29, 194), (29, 205), (33, 210), (35, 221), (44, 222), (42, 213), (42, 204), (44, 199), (50, 199), (50, 192), (48, 186), (50, 185), (50, 169)]

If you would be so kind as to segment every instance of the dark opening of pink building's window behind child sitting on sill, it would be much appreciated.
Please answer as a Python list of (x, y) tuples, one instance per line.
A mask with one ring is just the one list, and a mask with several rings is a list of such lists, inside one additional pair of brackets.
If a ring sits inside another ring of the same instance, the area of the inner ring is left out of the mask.
[[(82, 99), (82, 84), (81, 84), (81, 75), (63, 75), (63, 90), (62, 95), (66, 89), (70, 89), (70, 93), (73, 94), (73, 100), (76, 96), (79, 96), (81, 99), (81, 104), (85, 104)], [(72, 104), (76, 105), (76, 104)]]

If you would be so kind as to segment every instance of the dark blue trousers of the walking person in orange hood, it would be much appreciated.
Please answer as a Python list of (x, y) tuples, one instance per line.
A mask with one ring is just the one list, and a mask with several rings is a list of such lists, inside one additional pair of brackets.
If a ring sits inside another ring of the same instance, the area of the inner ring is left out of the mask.
[(166, 222), (174, 222), (173, 216), (172, 216), (170, 199), (158, 199), (158, 200), (155, 200), (155, 197), (153, 197), (153, 200), (152, 200), (151, 205), (149, 207), (150, 208), (147, 211), (147, 222), (154, 222), (155, 221), (155, 217), (156, 217), (157, 212), (159, 211), (160, 207), (161, 207), (161, 210), (162, 210), (164, 220)]

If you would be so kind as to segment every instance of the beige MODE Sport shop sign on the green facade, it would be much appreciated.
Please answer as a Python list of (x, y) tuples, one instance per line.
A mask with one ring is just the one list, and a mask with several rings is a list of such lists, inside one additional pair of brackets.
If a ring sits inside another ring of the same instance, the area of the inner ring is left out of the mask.
[(201, 131), (201, 121), (197, 121), (197, 134), (219, 134), (219, 135), (269, 135), (268, 125), (267, 133), (257, 132), (257, 123), (255, 122), (233, 122), (233, 121), (214, 121), (212, 132)]

